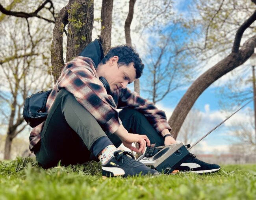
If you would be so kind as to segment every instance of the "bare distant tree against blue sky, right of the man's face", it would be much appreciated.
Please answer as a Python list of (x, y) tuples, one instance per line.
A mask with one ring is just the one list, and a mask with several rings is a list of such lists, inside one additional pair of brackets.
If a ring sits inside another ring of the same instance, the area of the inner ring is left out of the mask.
[(145, 63), (144, 91), (154, 104), (160, 102), (168, 94), (182, 86), (188, 85), (195, 74), (197, 67), (192, 63), (191, 56), (181, 50), (182, 38), (177, 31), (186, 29), (173, 24), (167, 33), (158, 33), (159, 37), (152, 39), (153, 45), (147, 45), (147, 55), (143, 58)]

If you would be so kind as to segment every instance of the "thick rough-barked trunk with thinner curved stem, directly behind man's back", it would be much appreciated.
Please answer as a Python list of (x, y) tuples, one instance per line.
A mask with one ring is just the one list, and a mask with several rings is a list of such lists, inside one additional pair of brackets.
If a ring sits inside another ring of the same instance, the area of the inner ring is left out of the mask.
[(66, 61), (70, 61), (91, 42), (93, 20), (93, 2), (91, 0), (70, 0), (67, 6), (59, 12), (53, 30), (51, 47), (54, 83), (58, 80), (64, 67), (63, 33), (65, 26), (68, 24)]

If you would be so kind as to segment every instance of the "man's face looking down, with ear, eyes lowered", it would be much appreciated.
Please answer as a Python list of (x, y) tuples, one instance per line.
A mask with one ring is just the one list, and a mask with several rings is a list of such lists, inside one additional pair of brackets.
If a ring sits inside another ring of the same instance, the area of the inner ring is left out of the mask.
[(112, 57), (108, 65), (104, 66), (104, 78), (108, 81), (111, 93), (118, 89), (126, 88), (128, 83), (132, 83), (136, 79), (136, 70), (134, 63), (128, 66), (119, 64), (117, 65), (118, 57)]

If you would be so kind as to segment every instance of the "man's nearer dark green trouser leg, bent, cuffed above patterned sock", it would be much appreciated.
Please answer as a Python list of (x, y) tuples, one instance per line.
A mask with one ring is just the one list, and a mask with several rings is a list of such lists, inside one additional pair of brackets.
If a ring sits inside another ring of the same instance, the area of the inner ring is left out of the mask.
[(105, 142), (94, 151), (112, 144), (96, 119), (72, 94), (61, 89), (48, 113), (36, 159), (44, 168), (56, 166), (59, 160), (62, 165), (83, 163), (90, 160), (97, 141)]

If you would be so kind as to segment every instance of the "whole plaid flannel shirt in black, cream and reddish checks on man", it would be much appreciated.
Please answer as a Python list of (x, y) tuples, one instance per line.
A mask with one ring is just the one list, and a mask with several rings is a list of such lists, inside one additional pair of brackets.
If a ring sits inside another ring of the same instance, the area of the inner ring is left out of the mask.
[[(58, 92), (65, 88), (72, 93), (76, 100), (100, 124), (105, 133), (114, 133), (121, 125), (118, 108), (134, 108), (143, 113), (150, 124), (161, 133), (164, 129), (171, 130), (164, 111), (154, 106), (153, 103), (142, 98), (128, 88), (115, 91), (108, 95), (102, 82), (99, 80), (96, 67), (88, 57), (76, 57), (63, 68), (52, 92), (48, 96), (46, 112), (49, 112)], [(44, 122), (32, 129), (30, 133), (30, 150), (41, 140), (41, 131)]]

